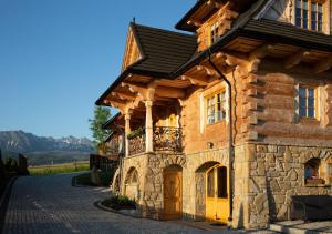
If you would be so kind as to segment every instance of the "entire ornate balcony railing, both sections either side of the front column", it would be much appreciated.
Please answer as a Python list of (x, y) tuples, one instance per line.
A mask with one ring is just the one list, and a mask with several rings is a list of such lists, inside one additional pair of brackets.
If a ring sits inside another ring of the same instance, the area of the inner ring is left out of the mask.
[[(146, 152), (146, 129), (139, 128), (131, 132), (128, 138), (129, 155)], [(153, 129), (153, 149), (154, 152), (180, 153), (181, 129), (170, 126), (155, 126)]]

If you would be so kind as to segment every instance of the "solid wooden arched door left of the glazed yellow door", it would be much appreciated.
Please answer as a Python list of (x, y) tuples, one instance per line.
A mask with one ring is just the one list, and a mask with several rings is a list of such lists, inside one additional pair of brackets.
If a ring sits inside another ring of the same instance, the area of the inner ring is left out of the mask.
[(183, 167), (170, 165), (164, 170), (164, 220), (181, 217)]

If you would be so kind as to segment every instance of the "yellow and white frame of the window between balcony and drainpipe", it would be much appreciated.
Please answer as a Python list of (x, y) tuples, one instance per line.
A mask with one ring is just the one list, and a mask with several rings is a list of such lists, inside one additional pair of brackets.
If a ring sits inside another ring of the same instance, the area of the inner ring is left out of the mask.
[[(220, 99), (218, 101), (218, 95), (220, 95)], [(214, 103), (212, 105), (209, 103), (209, 100), (214, 99)], [(205, 103), (206, 103), (206, 124), (207, 125), (212, 125), (222, 121), (226, 121), (226, 116), (227, 116), (227, 110), (225, 108), (226, 104), (226, 90), (218, 90), (211, 94), (208, 94), (205, 96)], [(212, 108), (214, 112), (214, 121), (210, 122), (210, 112), (209, 109)], [(219, 111), (220, 108), (220, 111)], [(220, 113), (219, 113), (220, 112)], [(222, 112), (225, 112), (222, 114)]]

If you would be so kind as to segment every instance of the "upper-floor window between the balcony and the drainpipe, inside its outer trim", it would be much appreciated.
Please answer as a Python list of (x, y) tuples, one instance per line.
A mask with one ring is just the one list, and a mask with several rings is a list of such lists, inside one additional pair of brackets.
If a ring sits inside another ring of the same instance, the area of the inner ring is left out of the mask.
[(226, 119), (225, 92), (207, 99), (207, 123), (214, 124)]

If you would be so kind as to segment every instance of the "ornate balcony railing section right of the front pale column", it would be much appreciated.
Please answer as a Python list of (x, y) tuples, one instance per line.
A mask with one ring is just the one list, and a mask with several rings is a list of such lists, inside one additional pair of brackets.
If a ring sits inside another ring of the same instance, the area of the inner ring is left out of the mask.
[(155, 151), (181, 152), (181, 129), (170, 126), (154, 128)]

